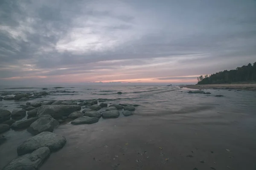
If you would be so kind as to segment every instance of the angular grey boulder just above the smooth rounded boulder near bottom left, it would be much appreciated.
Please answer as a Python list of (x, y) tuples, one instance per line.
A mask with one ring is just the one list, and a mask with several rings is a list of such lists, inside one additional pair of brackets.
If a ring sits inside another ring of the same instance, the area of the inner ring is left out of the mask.
[(52, 118), (50, 115), (43, 115), (39, 119), (37, 119), (35, 122), (33, 122), (27, 131), (29, 133), (32, 133), (33, 135), (37, 135), (41, 132), (52, 132), (55, 127), (59, 125), (59, 122)]

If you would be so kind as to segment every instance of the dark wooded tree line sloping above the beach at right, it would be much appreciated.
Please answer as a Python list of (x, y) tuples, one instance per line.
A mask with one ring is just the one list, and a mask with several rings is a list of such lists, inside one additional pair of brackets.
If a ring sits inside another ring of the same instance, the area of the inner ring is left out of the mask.
[(243, 65), (236, 70), (224, 70), (210, 76), (197, 78), (198, 85), (256, 81), (256, 62)]

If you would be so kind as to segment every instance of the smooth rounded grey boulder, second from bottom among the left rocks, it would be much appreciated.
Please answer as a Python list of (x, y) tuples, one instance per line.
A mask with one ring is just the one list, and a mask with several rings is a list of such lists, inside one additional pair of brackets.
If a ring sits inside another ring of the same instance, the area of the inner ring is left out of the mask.
[(52, 152), (61, 149), (66, 142), (66, 138), (62, 135), (52, 132), (42, 132), (22, 142), (17, 148), (17, 153), (18, 155), (24, 155), (45, 146), (49, 147)]

